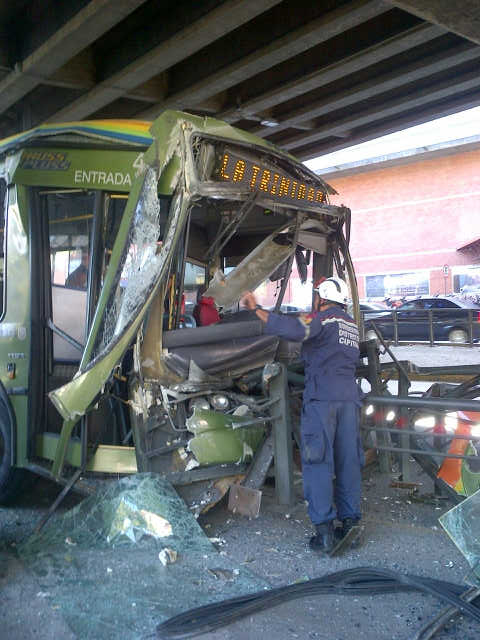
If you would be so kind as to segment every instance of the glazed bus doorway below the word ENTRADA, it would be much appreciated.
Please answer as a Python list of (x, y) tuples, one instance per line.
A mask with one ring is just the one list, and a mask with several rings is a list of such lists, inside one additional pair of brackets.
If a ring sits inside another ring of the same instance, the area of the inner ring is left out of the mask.
[[(59, 190), (40, 192), (39, 197), (48, 220), (45, 307), (51, 391), (78, 370), (127, 196)], [(60, 416), (48, 403), (48, 430), (56, 423), (59, 427)]]

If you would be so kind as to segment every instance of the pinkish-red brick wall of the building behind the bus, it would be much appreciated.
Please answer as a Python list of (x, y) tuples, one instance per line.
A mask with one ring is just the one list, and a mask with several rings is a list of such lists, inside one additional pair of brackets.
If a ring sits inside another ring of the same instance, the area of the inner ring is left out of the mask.
[(478, 262), (457, 249), (480, 236), (480, 150), (325, 178), (339, 192), (332, 203), (352, 210), (361, 296), (365, 275), (421, 269), (431, 294), (450, 292), (451, 267)]

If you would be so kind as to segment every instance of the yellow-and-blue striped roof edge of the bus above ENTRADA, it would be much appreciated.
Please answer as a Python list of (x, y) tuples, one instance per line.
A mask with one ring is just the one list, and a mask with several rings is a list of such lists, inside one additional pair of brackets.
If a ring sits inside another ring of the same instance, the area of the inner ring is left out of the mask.
[(75, 135), (134, 147), (148, 147), (152, 143), (152, 136), (149, 133), (151, 124), (142, 120), (84, 120), (42, 124), (0, 140), (0, 155), (26, 146), (34, 140), (62, 135)]

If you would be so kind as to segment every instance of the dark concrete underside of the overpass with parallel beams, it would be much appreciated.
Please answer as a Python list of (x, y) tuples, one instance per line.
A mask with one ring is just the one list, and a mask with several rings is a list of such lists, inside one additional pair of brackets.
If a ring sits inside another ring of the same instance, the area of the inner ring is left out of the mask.
[(3, 0), (0, 137), (183, 109), (302, 159), (480, 104), (478, 0)]

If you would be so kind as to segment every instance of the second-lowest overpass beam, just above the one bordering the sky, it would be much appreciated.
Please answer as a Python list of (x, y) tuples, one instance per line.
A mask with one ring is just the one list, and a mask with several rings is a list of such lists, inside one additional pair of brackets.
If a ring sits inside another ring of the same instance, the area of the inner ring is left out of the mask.
[(480, 76), (477, 71), (465, 73), (459, 77), (448, 78), (434, 86), (421, 87), (416, 91), (406, 93), (399, 98), (387, 100), (363, 111), (355, 111), (348, 116), (317, 127), (312, 133), (300, 134), (281, 140), (279, 145), (291, 151), (292, 149), (342, 134), (345, 131), (355, 129), (355, 127), (368, 125), (375, 122), (375, 120), (388, 118), (404, 111), (411, 111), (417, 107), (474, 89), (480, 89)]

